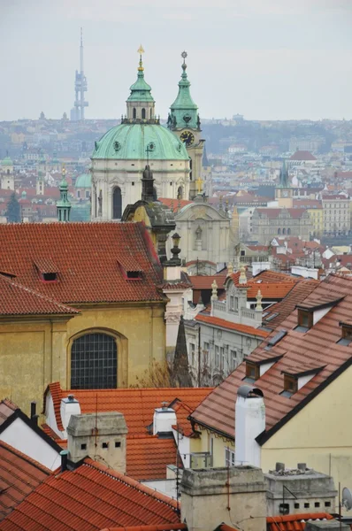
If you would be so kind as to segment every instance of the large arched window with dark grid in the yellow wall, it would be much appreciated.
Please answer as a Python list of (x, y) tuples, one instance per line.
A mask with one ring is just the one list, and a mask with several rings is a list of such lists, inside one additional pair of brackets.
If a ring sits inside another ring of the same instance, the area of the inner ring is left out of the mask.
[(101, 332), (81, 335), (71, 348), (71, 389), (116, 389), (118, 349), (115, 339)]

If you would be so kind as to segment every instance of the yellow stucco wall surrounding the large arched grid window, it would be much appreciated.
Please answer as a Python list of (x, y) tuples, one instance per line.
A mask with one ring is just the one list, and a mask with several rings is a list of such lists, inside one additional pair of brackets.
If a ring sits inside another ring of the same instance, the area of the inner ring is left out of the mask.
[(106, 332), (118, 346), (118, 386), (146, 376), (153, 358), (165, 359), (165, 304), (96, 305), (80, 308), (72, 319), (0, 321), (0, 399), (9, 397), (24, 412), (51, 381), (71, 385), (71, 346), (82, 334)]

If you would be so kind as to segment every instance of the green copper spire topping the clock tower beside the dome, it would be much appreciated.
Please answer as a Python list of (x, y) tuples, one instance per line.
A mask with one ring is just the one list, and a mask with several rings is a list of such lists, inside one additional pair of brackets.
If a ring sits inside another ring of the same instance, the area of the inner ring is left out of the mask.
[(199, 129), (201, 122), (198, 115), (198, 107), (193, 101), (189, 92), (190, 82), (187, 78), (186, 58), (187, 52), (181, 53), (183, 58), (182, 75), (179, 81), (179, 94), (170, 107), (171, 114), (167, 120), (167, 125), (171, 129), (182, 129), (184, 127), (191, 127)]

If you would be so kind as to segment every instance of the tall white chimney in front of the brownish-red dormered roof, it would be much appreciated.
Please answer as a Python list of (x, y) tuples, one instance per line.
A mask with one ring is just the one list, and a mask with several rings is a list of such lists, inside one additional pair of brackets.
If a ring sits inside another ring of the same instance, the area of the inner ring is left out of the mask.
[(250, 385), (242, 385), (237, 391), (235, 413), (236, 465), (260, 467), (261, 448), (256, 443), (256, 437), (265, 429), (263, 392)]

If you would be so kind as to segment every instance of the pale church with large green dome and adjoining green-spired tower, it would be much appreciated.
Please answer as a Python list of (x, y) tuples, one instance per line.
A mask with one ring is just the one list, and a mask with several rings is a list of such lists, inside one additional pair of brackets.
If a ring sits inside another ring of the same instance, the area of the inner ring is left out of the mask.
[(163, 127), (144, 79), (142, 47), (139, 52), (137, 81), (130, 88), (126, 115), (96, 142), (91, 157), (92, 220), (121, 219), (126, 205), (142, 196), (146, 165), (154, 175), (156, 197), (195, 196), (195, 180), (201, 176), (203, 140), (198, 110), (189, 95), (186, 65), (182, 65), (180, 94), (172, 104), (168, 127)]

